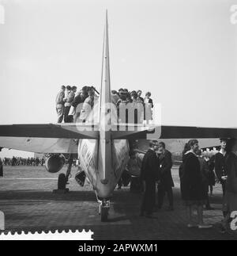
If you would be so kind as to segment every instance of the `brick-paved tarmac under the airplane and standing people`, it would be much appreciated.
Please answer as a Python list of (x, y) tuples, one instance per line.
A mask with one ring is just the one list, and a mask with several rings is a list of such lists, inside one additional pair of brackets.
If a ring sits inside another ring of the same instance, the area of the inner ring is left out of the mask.
[[(64, 169), (65, 171), (65, 169)], [(73, 175), (77, 172), (73, 168)], [(4, 166), (0, 178), (0, 210), (6, 216), (6, 231), (49, 231), (91, 229), (94, 239), (237, 239), (237, 234), (221, 234), (222, 220), (220, 185), (211, 197), (213, 211), (205, 211), (209, 230), (186, 227), (186, 212), (180, 199), (178, 167), (172, 170), (175, 181), (175, 211), (157, 211), (154, 219), (139, 216), (141, 193), (129, 188), (115, 190), (109, 221), (100, 222), (95, 193), (88, 183), (84, 188), (70, 179), (70, 193), (55, 194), (58, 174), (49, 174), (44, 167)], [(73, 177), (73, 176), (72, 176)], [(165, 201), (167, 203), (167, 201)]]

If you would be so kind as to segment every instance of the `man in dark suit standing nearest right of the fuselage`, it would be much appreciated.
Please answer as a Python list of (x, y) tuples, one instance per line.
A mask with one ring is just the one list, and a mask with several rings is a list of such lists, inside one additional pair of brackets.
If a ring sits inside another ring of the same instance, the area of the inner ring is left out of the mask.
[(159, 160), (156, 156), (158, 143), (152, 140), (141, 166), (141, 180), (145, 182), (145, 193), (141, 203), (140, 216), (152, 217), (156, 204), (156, 181), (160, 178)]

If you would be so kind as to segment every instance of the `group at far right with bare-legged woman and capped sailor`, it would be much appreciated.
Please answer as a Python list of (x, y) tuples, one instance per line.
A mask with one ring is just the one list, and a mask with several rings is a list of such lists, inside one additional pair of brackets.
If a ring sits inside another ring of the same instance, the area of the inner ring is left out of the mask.
[[(221, 231), (226, 231), (231, 212), (237, 209), (237, 156), (234, 139), (220, 139), (220, 151), (210, 160), (209, 166), (201, 158), (198, 140), (192, 139), (183, 151), (181, 181), (182, 199), (186, 202), (189, 227), (195, 227), (194, 207), (198, 209), (199, 224), (203, 224), (203, 205), (209, 206), (209, 174), (215, 170), (216, 181), (222, 185), (223, 216)], [(213, 174), (212, 174), (213, 175)], [(213, 185), (213, 184), (212, 184)], [(204, 225), (203, 227), (210, 227)]]

